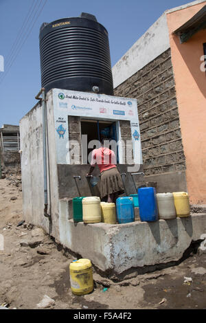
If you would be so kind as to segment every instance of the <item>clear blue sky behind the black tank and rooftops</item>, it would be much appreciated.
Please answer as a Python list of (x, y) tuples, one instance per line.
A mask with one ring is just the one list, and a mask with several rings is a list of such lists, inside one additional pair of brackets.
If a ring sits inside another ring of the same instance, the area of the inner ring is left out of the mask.
[[(190, 2), (47, 0), (37, 16), (44, 1), (0, 0), (0, 55), (5, 60), (5, 70), (0, 72), (0, 127), (19, 124), (23, 115), (36, 104), (34, 97), (41, 89), (38, 33), (43, 22), (79, 16), (81, 12), (94, 14), (108, 30), (113, 66), (165, 10)], [(35, 11), (27, 16), (30, 8), (38, 9), (36, 16)], [(19, 34), (23, 23), (23, 32)], [(19, 47), (16, 47), (18, 43)]]

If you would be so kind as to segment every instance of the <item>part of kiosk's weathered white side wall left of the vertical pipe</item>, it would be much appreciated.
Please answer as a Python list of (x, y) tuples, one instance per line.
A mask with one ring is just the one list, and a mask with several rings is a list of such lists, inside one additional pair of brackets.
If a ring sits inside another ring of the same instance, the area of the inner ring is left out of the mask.
[(49, 222), (43, 215), (43, 127), (42, 107), (38, 105), (20, 121), (21, 180), (23, 219), (41, 225), (47, 232)]

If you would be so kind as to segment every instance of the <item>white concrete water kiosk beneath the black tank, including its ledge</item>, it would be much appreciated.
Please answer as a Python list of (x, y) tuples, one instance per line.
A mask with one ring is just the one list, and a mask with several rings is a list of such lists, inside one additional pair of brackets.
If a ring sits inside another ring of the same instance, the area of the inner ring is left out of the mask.
[[(62, 94), (64, 99), (62, 99)], [(59, 96), (62, 96), (61, 99), (59, 99)], [(67, 98), (67, 96), (70, 98)], [(185, 219), (160, 220), (156, 223), (141, 223), (139, 221), (123, 225), (73, 223), (71, 199), (78, 196), (73, 175), (82, 176), (79, 185), (82, 196), (96, 195), (98, 190), (92, 191), (85, 178), (89, 165), (71, 164), (73, 159), (71, 151), (69, 154), (69, 139), (80, 140), (79, 128), (81, 126), (76, 122), (74, 115), (75, 113), (80, 114), (77, 107), (81, 106), (76, 105), (76, 109), (72, 109), (71, 96), (79, 98), (82, 98), (82, 96), (86, 98), (104, 97), (92, 93), (74, 93), (74, 91), (59, 89), (53, 89), (47, 93), (49, 219), (44, 216), (41, 103), (36, 104), (20, 122), (24, 219), (29, 223), (43, 227), (46, 232), (56, 238), (56, 241), (72, 252), (83, 258), (89, 258), (93, 265), (98, 267), (100, 271), (104, 271), (104, 274), (106, 273), (108, 276), (124, 275), (130, 270), (137, 274), (138, 270), (144, 270), (145, 266), (153, 268), (161, 263), (179, 260), (190, 243), (193, 240), (200, 239), (201, 234), (206, 232), (205, 218), (202, 214)], [(107, 100), (111, 100), (111, 98), (118, 101), (118, 98), (107, 96)], [(122, 102), (128, 101), (124, 98), (121, 98), (121, 100)], [(65, 104), (62, 105), (62, 103)], [(135, 106), (135, 100), (133, 104)], [(95, 109), (89, 104), (84, 105), (84, 107)], [(130, 107), (124, 106), (124, 109), (128, 111)], [(135, 106), (135, 109), (137, 109), (137, 106)], [(69, 113), (73, 115), (69, 115)], [(124, 115), (123, 119), (128, 118), (127, 113), (125, 114), (126, 116)], [(80, 116), (77, 118), (80, 118)], [(109, 120), (109, 118), (108, 113), (106, 119)], [(121, 117), (118, 116), (118, 118)], [(103, 119), (105, 120), (105, 118)], [(115, 117), (113, 117), (113, 120), (115, 120)], [(126, 120), (116, 120), (115, 122), (119, 124), (119, 136), (124, 139), (124, 122)], [(123, 122), (123, 125), (121, 122)], [(136, 123), (138, 123), (138, 118)], [(135, 129), (137, 127), (138, 124), (135, 124)], [(133, 127), (131, 126), (130, 137), (132, 133)], [(137, 144), (136, 148), (135, 144)], [(73, 145), (78, 146), (76, 142), (73, 142)], [(141, 161), (140, 143), (134, 141), (133, 145), (133, 155), (138, 163)], [(72, 149), (71, 146), (70, 148)], [(75, 152), (76, 149), (73, 151)], [(122, 159), (121, 149), (119, 151), (119, 159)], [(120, 171), (128, 170), (126, 164), (119, 164), (118, 167)], [(133, 166), (130, 166), (130, 168), (130, 171), (133, 171)], [(128, 187), (133, 187), (131, 182), (128, 182)]]

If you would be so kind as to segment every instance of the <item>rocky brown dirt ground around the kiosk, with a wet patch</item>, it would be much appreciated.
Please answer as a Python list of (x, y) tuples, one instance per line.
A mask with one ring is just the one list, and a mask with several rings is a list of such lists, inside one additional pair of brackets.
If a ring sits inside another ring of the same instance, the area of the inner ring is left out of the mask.
[[(43, 230), (22, 221), (21, 176), (0, 179), (0, 305), (37, 309), (45, 295), (49, 309), (206, 309), (206, 254), (190, 254), (180, 265), (112, 282), (94, 272), (95, 289), (74, 296), (69, 282), (73, 256)], [(2, 249), (2, 248), (0, 248)], [(184, 277), (192, 278), (184, 284)], [(106, 289), (106, 290), (105, 290)], [(161, 304), (160, 304), (161, 303)]]

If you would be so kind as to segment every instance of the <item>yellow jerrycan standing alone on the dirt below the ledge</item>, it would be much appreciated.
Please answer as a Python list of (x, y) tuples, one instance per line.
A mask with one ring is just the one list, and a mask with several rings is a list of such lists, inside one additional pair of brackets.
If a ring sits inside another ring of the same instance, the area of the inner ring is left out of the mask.
[(74, 260), (69, 265), (69, 274), (73, 294), (85, 295), (93, 291), (93, 273), (89, 259)]

